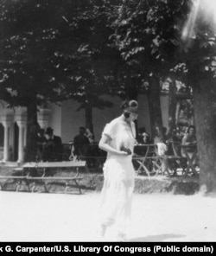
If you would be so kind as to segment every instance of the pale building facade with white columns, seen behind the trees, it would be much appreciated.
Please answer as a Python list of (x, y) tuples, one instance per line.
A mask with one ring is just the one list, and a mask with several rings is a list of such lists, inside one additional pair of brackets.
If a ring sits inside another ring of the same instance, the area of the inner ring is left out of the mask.
[[(98, 141), (106, 123), (121, 114), (121, 99), (106, 96), (113, 104), (104, 110), (93, 109), (92, 121), (95, 140)], [(149, 105), (146, 95), (138, 97), (139, 117), (138, 127), (145, 127), (150, 131)], [(168, 99), (161, 98), (163, 125), (168, 124)], [(84, 110), (77, 111), (79, 103), (70, 99), (61, 103), (61, 106), (51, 104), (48, 108), (41, 108), (38, 112), (38, 124), (45, 129), (50, 126), (54, 134), (60, 136), (62, 142), (67, 144), (73, 141), (79, 132), (79, 126), (85, 126)], [(0, 161), (2, 163), (22, 163), (27, 138), (27, 110), (25, 107), (8, 108), (0, 101)]]

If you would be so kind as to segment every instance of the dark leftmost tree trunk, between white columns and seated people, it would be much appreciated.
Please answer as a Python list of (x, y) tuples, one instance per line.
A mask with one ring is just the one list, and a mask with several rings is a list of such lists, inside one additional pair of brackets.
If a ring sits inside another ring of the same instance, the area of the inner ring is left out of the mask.
[(25, 149), (25, 162), (34, 162), (36, 160), (37, 131), (37, 105), (33, 100), (32, 103), (27, 106), (27, 143)]

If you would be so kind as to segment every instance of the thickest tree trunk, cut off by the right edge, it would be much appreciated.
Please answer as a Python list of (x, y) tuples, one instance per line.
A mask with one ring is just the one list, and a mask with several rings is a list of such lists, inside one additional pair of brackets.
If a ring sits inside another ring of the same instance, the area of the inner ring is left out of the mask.
[(216, 191), (216, 86), (203, 80), (194, 88), (194, 114), (200, 159), (200, 187)]

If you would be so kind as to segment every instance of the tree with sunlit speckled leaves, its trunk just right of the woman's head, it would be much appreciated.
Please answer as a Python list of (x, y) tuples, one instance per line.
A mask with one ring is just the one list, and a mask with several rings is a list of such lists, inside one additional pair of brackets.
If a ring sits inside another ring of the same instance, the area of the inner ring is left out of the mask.
[(115, 42), (128, 67), (135, 71), (137, 91), (143, 91), (143, 81), (149, 83), (147, 95), (153, 137), (156, 127), (162, 136), (160, 85), (176, 64), (176, 48), (179, 47), (180, 38), (176, 23), (181, 19), (182, 8), (184, 1), (122, 1), (114, 22)]

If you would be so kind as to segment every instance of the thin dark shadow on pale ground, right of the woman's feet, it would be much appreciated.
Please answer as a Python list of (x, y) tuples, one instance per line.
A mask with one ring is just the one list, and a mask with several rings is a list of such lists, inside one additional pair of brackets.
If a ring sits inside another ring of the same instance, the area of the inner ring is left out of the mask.
[(145, 237), (137, 237), (132, 238), (129, 241), (130, 242), (160, 242), (162, 240), (167, 239), (178, 239), (185, 237), (185, 235), (182, 234), (158, 234), (158, 235), (148, 235)]

